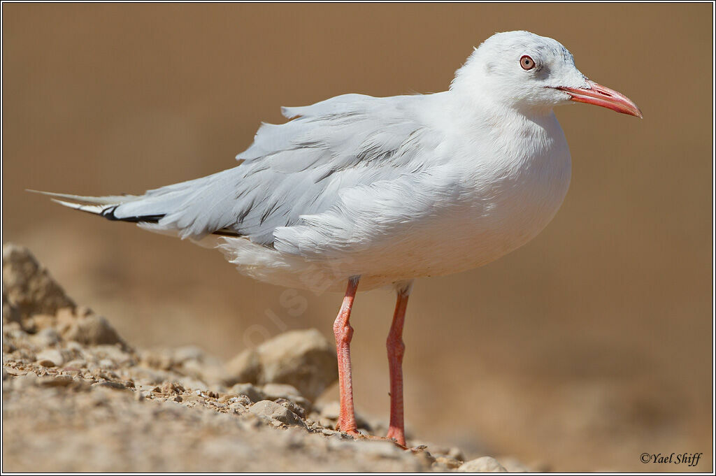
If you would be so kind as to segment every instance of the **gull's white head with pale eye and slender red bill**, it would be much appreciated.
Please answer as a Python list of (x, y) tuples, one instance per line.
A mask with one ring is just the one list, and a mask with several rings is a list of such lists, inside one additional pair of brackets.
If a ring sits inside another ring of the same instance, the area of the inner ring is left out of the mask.
[(458, 69), (450, 89), (523, 112), (551, 111), (570, 101), (642, 117), (631, 99), (588, 79), (560, 42), (529, 31), (494, 34)]

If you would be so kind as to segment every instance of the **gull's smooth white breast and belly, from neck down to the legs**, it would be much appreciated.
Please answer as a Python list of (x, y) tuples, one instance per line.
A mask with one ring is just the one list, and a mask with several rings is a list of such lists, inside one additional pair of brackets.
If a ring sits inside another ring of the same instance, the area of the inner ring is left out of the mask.
[[(514, 123), (513, 123), (514, 124)], [(571, 177), (569, 147), (556, 117), (492, 128), (489, 140), (456, 150), (446, 167), (452, 203), (436, 205), (390, 243), (364, 276), (384, 279), (440, 276), (483, 266), (534, 238), (556, 214)], [(463, 147), (465, 147), (463, 145)], [(489, 157), (485, 160), (485, 157)], [(453, 185), (450, 185), (450, 184)], [(401, 276), (401, 273), (408, 276)]]

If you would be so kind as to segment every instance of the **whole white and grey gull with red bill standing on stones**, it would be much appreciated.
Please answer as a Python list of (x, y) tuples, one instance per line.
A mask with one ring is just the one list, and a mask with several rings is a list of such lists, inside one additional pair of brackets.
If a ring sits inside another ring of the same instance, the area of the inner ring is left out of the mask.
[(387, 438), (405, 447), (402, 330), (413, 280), (483, 266), (547, 225), (569, 188), (569, 147), (553, 112), (569, 102), (642, 117), (579, 72), (556, 40), (508, 31), (475, 48), (445, 92), (283, 107), (289, 122), (261, 125), (228, 170), (143, 195), (46, 194), (216, 247), (261, 281), (345, 289), (333, 326), (337, 427), (354, 437), (354, 298), (359, 284), (395, 288)]

